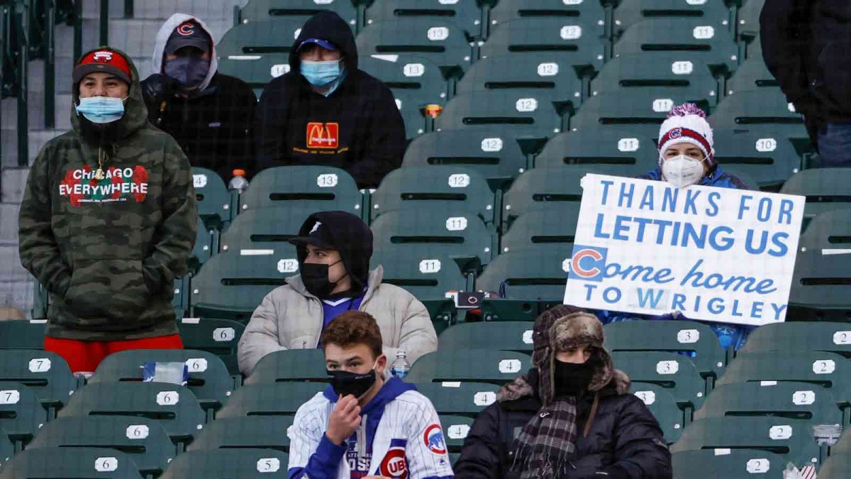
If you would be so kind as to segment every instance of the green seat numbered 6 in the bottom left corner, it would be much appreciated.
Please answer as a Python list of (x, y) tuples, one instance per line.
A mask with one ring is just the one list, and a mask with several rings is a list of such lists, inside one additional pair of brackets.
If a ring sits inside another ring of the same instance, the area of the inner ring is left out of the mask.
[(133, 454), (101, 447), (39, 447), (14, 455), (0, 479), (140, 479)]

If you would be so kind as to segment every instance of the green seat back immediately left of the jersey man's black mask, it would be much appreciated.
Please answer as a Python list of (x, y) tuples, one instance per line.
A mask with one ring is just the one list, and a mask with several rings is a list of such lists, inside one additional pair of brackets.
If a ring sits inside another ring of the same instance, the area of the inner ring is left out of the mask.
[(302, 404), (327, 388), (325, 383), (246, 384), (231, 395), (231, 401), (216, 414), (216, 420), (243, 416), (292, 416)]

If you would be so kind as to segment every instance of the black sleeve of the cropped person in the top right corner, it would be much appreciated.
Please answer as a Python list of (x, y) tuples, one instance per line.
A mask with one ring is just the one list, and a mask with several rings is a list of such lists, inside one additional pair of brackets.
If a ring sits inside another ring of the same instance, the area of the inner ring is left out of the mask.
[(812, 113), (814, 99), (808, 89), (807, 65), (812, 50), (810, 18), (812, 0), (771, 0), (760, 15), (762, 56), (798, 112)]

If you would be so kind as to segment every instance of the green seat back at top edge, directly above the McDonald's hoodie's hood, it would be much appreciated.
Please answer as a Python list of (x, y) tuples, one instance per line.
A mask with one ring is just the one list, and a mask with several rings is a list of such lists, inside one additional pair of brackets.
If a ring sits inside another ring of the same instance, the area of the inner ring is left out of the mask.
[(351, 30), (357, 30), (357, 8), (351, 0), (250, 0), (239, 10), (239, 18), (243, 24), (281, 17), (304, 23), (312, 15), (328, 10), (346, 20)]

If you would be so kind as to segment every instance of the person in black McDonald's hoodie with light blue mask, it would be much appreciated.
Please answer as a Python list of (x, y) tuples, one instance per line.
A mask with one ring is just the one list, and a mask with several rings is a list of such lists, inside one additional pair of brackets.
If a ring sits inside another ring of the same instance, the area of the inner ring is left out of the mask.
[(323, 164), (375, 188), (402, 164), (405, 127), (389, 88), (357, 69), (351, 28), (313, 15), (289, 54), (290, 71), (266, 85), (257, 107), (260, 168)]

